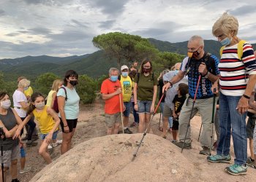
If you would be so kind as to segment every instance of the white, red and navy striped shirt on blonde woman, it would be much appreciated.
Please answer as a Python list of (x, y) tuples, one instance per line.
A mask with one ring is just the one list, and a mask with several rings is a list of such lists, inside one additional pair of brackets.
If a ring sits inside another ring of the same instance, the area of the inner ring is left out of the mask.
[(249, 75), (256, 74), (256, 60), (252, 45), (244, 43), (242, 60), (238, 58), (238, 44), (225, 47), (219, 62), (219, 87), (224, 95), (244, 94)]

